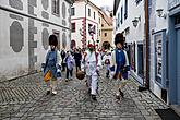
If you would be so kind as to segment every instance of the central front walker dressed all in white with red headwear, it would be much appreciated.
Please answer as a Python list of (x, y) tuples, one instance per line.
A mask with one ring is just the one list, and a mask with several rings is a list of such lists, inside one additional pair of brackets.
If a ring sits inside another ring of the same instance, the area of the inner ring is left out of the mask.
[(82, 71), (86, 72), (88, 93), (92, 95), (93, 100), (96, 99), (97, 95), (97, 77), (98, 71), (101, 67), (100, 55), (96, 52), (95, 46), (88, 44), (88, 49), (85, 51), (82, 60)]

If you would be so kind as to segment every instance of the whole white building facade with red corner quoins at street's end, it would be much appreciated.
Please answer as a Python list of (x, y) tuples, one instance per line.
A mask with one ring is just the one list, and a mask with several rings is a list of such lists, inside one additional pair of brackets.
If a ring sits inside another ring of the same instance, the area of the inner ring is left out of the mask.
[(72, 47), (85, 48), (88, 43), (99, 44), (99, 11), (89, 0), (75, 0), (71, 7)]

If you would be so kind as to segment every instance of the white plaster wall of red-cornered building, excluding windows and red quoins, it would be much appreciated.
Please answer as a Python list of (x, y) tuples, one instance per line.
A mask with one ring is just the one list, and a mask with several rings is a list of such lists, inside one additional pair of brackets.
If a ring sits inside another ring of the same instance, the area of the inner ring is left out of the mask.
[[(75, 23), (75, 33), (72, 33), (72, 38), (71, 40), (75, 40), (76, 47), (82, 48), (82, 38), (80, 34), (80, 29), (83, 29), (83, 21), (86, 19), (86, 45), (88, 44), (88, 40), (92, 41), (92, 36), (88, 33), (88, 24), (95, 25), (96, 26), (96, 34), (94, 35), (95, 41), (98, 39), (98, 25), (99, 25), (99, 15), (98, 15), (98, 10), (95, 9), (91, 3), (86, 3), (84, 1), (81, 2), (75, 2), (73, 7), (75, 8), (75, 15), (71, 16), (71, 23)], [(86, 9), (86, 10), (85, 10)], [(91, 9), (91, 16), (88, 16), (88, 9)], [(85, 13), (86, 11), (86, 13)], [(95, 19), (94, 19), (94, 12), (95, 12)]]

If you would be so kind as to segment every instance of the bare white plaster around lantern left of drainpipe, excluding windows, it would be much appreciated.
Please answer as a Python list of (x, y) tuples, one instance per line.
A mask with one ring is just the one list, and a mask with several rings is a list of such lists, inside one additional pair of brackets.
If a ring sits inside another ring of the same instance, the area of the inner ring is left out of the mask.
[[(123, 7), (123, 23), (120, 24), (120, 27), (116, 31), (116, 34), (122, 33), (125, 31), (125, 28), (129, 27), (129, 33), (124, 33), (125, 41), (128, 44), (133, 44), (135, 41), (135, 69), (136, 72), (133, 72), (136, 75), (136, 79), (139, 82), (143, 83), (143, 80), (137, 76), (137, 44), (143, 44), (143, 40), (145, 39), (145, 9), (144, 9), (144, 1), (141, 1), (139, 4), (136, 4), (135, 1), (128, 1), (128, 17), (124, 20), (124, 0), (120, 1), (118, 11), (116, 13), (116, 20), (118, 20), (118, 13), (120, 13), (120, 20), (121, 20), (121, 7)], [(140, 17), (137, 26), (134, 27), (132, 21), (135, 17)], [(116, 24), (115, 24), (116, 25)]]

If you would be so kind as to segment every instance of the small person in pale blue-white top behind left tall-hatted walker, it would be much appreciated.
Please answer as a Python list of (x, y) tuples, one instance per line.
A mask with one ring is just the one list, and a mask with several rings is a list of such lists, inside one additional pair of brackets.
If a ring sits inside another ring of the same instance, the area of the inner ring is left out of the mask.
[(65, 79), (65, 82), (68, 82), (69, 74), (71, 75), (70, 80), (72, 80), (73, 67), (74, 67), (74, 59), (73, 59), (70, 51), (67, 51), (67, 57), (65, 57), (64, 61), (67, 63), (67, 79)]

